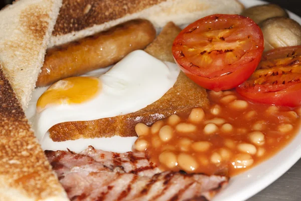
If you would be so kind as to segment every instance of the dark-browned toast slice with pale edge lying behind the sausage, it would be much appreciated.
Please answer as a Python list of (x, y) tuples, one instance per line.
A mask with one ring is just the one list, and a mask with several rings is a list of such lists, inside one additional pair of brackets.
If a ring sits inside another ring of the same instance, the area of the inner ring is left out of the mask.
[(49, 47), (68, 43), (109, 29), (122, 22), (144, 18), (156, 28), (173, 21), (181, 26), (204, 16), (240, 14), (238, 0), (63, 0)]

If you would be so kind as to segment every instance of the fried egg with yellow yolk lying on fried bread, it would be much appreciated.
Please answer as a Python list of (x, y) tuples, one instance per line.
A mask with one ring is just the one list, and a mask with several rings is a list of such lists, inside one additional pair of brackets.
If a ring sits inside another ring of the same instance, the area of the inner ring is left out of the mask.
[(106, 73), (70, 77), (51, 85), (38, 99), (33, 128), (39, 141), (54, 125), (136, 112), (160, 99), (180, 73), (142, 50), (128, 54)]

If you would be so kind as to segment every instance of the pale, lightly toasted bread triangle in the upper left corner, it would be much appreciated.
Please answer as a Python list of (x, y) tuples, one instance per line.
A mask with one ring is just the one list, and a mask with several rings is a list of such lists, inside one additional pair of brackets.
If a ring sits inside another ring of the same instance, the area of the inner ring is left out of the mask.
[(0, 64), (25, 110), (62, 0), (20, 0), (0, 11)]

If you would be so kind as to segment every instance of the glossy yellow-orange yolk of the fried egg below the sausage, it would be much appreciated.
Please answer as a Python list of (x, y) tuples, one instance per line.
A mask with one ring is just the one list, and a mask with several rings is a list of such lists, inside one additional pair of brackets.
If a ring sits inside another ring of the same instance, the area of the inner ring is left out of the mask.
[(101, 90), (96, 77), (69, 77), (51, 85), (38, 99), (37, 112), (49, 105), (80, 104), (92, 99)]

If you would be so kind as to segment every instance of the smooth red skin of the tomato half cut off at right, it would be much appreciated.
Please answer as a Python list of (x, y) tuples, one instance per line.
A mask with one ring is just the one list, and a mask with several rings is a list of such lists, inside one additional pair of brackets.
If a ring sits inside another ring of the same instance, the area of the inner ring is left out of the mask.
[(250, 93), (242, 87), (237, 87), (236, 91), (253, 102), (292, 108), (301, 105), (301, 83), (275, 92)]

